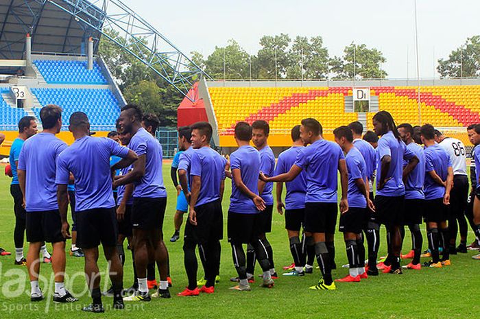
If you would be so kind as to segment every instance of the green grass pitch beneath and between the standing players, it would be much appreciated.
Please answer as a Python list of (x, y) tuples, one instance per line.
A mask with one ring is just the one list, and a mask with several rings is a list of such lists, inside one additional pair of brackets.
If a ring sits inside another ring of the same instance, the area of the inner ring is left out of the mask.
[[(3, 170), (3, 167), (1, 167)], [(175, 212), (175, 189), (169, 179), (169, 165), (164, 165), (165, 183), (168, 189), (168, 205), (165, 217), (165, 239), (173, 233), (173, 213)], [(14, 213), (9, 193), (10, 179), (0, 176), (0, 246), (13, 254)], [(230, 182), (227, 182), (224, 199), (224, 215), (228, 208)], [(225, 221), (226, 222), (226, 221)], [(226, 231), (226, 229), (225, 229)], [(382, 230), (382, 237), (385, 231)], [(226, 236), (225, 236), (226, 237)], [(469, 240), (472, 233), (469, 234)], [(274, 248), (276, 270), (281, 273), (283, 265), (291, 263), (287, 234), (283, 217), (274, 214), (273, 231), (269, 241)], [(337, 265), (346, 263), (346, 253), (341, 235), (335, 236)], [(406, 247), (410, 246), (407, 233)], [(426, 246), (426, 244), (424, 244)], [(221, 282), (213, 295), (180, 298), (175, 296), (187, 285), (187, 276), (183, 267), (182, 240), (172, 244), (167, 240), (170, 254), (173, 298), (152, 300), (150, 303), (129, 305), (124, 311), (108, 310), (97, 318), (478, 318), (478, 287), (480, 283), (478, 262), (466, 255), (452, 257), (448, 268), (422, 269), (405, 272), (403, 276), (381, 274), (361, 283), (338, 283), (337, 290), (331, 292), (311, 291), (307, 288), (319, 279), (320, 272), (294, 278), (281, 277), (273, 289), (263, 289), (256, 284), (252, 292), (228, 290), (235, 276), (230, 246), (226, 239), (222, 241)], [(26, 249), (25, 249), (26, 252)], [(381, 254), (385, 253), (385, 241), (382, 241)], [(90, 302), (85, 292), (86, 284), (83, 259), (67, 257), (67, 274), (75, 276), (69, 280), (68, 289), (80, 298), (78, 303), (65, 307), (51, 302), (51, 287), (42, 284), (48, 296), (40, 303), (29, 302), (29, 282), (26, 269), (14, 266), (14, 256), (0, 257), (0, 318), (87, 318), (93, 314), (84, 314), (80, 307)], [(106, 271), (106, 262), (100, 258), (100, 268)], [(125, 286), (132, 283), (131, 255), (125, 263)], [(257, 266), (257, 273), (260, 269)], [(339, 278), (348, 272), (339, 268), (333, 276)], [(51, 268), (43, 265), (41, 273), (51, 278)], [(199, 270), (199, 277), (202, 276)], [(108, 285), (105, 277), (102, 285)], [(22, 292), (18, 294), (16, 292)], [(16, 295), (16, 296), (15, 296)], [(104, 298), (104, 304), (110, 305), (111, 298)], [(477, 314), (477, 315), (475, 315)]]

